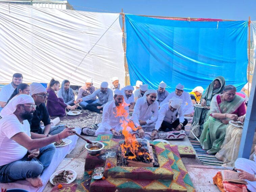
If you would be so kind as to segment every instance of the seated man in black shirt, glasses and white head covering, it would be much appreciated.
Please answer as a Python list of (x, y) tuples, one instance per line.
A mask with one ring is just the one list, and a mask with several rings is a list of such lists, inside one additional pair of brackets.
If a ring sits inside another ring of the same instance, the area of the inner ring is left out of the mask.
[[(33, 118), (28, 120), (32, 138), (44, 138), (49, 134), (56, 135), (63, 131), (66, 128), (65, 125), (51, 128), (51, 119), (45, 106), (45, 101), (49, 95), (46, 88), (41, 83), (32, 83), (30, 93), (36, 105)], [(44, 123), (44, 129), (40, 127), (41, 121)]]

